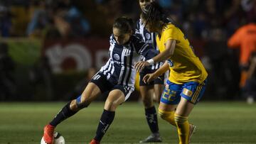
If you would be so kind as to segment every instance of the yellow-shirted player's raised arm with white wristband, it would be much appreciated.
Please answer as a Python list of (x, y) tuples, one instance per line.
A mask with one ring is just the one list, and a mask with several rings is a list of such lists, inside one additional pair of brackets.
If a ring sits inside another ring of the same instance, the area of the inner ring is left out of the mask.
[(135, 68), (137, 71), (141, 71), (144, 69), (144, 67), (153, 65), (154, 62), (163, 62), (165, 60), (168, 60), (172, 55), (174, 55), (174, 50), (176, 47), (176, 40), (170, 39), (167, 40), (165, 43), (165, 50), (163, 52), (160, 52), (159, 55), (156, 55), (155, 57), (151, 58), (147, 61), (141, 61), (137, 62), (135, 64)]

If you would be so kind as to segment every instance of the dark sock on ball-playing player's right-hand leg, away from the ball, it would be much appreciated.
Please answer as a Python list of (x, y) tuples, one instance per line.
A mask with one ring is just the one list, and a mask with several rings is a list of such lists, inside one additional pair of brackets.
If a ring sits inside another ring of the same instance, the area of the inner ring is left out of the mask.
[(100, 123), (97, 127), (95, 140), (102, 140), (103, 136), (107, 132), (107, 129), (110, 128), (110, 124), (114, 120), (114, 111), (107, 111), (104, 109), (102, 116), (100, 118)]

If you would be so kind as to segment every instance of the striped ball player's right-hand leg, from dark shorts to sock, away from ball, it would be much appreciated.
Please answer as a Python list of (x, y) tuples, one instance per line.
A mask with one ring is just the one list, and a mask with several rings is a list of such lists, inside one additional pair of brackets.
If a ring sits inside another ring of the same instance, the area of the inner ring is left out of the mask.
[(91, 141), (91, 144), (100, 143), (100, 140), (102, 140), (102, 137), (107, 132), (107, 129), (110, 128), (110, 125), (114, 120), (114, 113), (117, 106), (122, 104), (130, 96), (130, 94), (132, 94), (132, 90), (125, 90), (123, 87), (117, 86), (112, 89), (110, 94), (107, 96), (107, 100), (105, 101), (100, 123), (97, 126), (96, 135)]

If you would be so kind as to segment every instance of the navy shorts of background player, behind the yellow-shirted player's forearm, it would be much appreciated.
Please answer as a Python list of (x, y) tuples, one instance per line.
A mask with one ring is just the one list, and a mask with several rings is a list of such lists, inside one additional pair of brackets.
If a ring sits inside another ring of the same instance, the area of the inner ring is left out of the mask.
[(151, 74), (153, 72), (156, 72), (156, 70), (143, 70), (142, 72), (139, 72), (139, 86), (152, 86), (154, 84), (164, 84), (164, 74), (161, 76), (157, 77), (153, 81), (149, 82), (148, 84), (143, 82), (143, 77), (146, 74)]

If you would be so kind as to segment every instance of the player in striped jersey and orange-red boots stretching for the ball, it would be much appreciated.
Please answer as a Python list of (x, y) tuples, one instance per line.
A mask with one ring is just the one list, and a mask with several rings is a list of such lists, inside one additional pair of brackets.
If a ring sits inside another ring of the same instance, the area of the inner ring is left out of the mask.
[(110, 59), (92, 77), (85, 91), (77, 99), (68, 102), (45, 126), (43, 139), (46, 143), (53, 143), (53, 131), (60, 122), (89, 106), (97, 96), (109, 91), (95, 138), (90, 142), (90, 144), (100, 143), (114, 119), (114, 111), (117, 106), (126, 101), (134, 91), (136, 74), (134, 62), (139, 60), (139, 55), (149, 58), (154, 57), (158, 52), (133, 34), (131, 18), (121, 17), (117, 18), (113, 24), (109, 54)]

